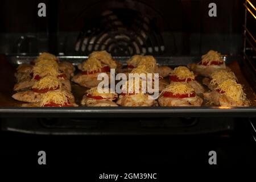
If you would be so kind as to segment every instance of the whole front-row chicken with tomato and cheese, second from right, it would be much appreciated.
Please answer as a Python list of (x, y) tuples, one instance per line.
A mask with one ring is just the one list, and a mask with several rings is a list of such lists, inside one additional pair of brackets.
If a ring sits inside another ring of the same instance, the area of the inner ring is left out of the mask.
[(201, 106), (203, 99), (186, 82), (171, 82), (158, 98), (160, 106)]

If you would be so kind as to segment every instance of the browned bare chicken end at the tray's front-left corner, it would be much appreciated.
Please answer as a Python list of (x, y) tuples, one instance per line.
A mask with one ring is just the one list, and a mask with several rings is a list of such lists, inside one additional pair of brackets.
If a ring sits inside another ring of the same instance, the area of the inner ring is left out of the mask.
[(15, 100), (22, 102), (40, 102), (42, 99), (42, 94), (29, 91), (17, 92), (12, 96)]

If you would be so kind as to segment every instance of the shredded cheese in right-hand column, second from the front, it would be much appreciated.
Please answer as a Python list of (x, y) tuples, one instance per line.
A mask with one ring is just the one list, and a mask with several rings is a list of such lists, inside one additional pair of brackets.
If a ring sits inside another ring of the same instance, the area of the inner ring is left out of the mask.
[(233, 72), (231, 71), (226, 71), (226, 70), (220, 70), (213, 72), (210, 77), (212, 80), (210, 81), (210, 84), (215, 85), (215, 84), (220, 84), (222, 81), (232, 79), (234, 81), (237, 80), (237, 77), (234, 75)]

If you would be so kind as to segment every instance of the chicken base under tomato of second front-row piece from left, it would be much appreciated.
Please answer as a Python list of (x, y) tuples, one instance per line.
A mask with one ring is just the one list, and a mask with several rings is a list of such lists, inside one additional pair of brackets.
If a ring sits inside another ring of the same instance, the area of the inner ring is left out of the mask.
[(98, 107), (98, 106), (118, 106), (117, 104), (115, 104), (115, 102), (110, 101), (110, 100), (96, 100), (93, 98), (89, 98), (86, 96), (86, 94), (84, 95), (84, 97), (82, 97), (82, 101), (81, 101), (82, 105), (86, 105), (89, 107)]

